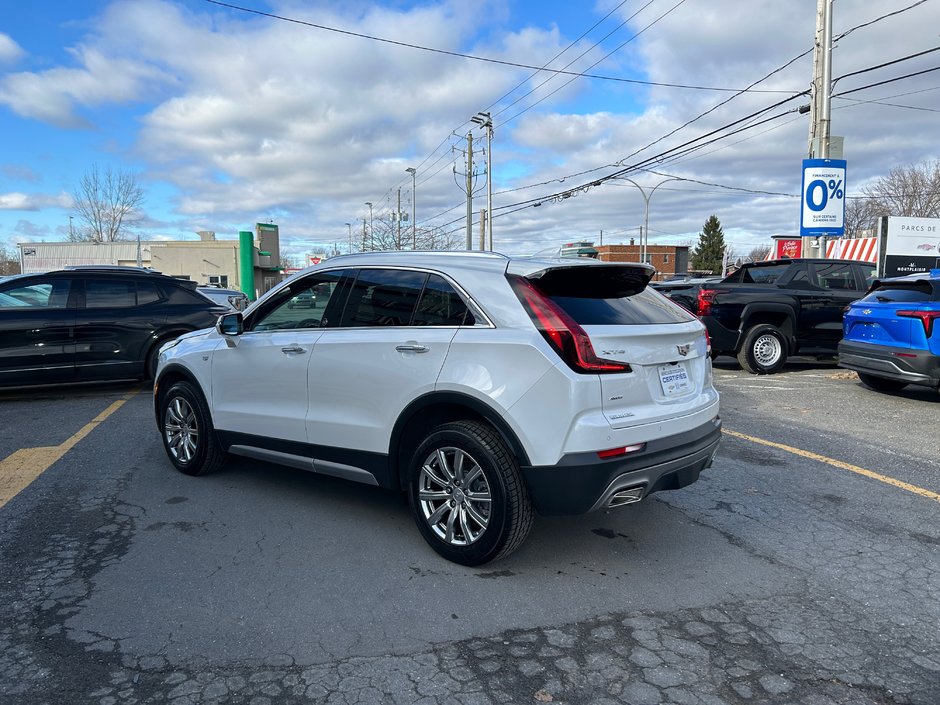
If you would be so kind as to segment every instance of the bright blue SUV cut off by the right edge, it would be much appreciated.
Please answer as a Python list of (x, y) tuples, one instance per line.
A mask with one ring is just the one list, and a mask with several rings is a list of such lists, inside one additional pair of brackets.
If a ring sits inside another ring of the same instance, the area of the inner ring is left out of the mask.
[(839, 366), (879, 392), (940, 387), (940, 269), (876, 279), (842, 319)]

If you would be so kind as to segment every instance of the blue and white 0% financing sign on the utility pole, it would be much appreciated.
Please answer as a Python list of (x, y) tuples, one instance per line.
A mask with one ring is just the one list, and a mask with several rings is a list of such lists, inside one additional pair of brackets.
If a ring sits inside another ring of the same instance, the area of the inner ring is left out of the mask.
[(845, 234), (845, 165), (844, 159), (803, 160), (803, 237)]

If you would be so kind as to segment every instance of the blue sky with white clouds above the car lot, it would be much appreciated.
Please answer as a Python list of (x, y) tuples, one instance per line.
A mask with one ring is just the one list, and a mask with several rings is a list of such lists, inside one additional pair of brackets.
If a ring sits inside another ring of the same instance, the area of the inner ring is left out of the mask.
[[(418, 228), (463, 242), (468, 132), (474, 218), (486, 207), (485, 133), (469, 119), (488, 111), (495, 249), (637, 237), (644, 199), (605, 178), (619, 173), (647, 191), (683, 179), (651, 197), (651, 243), (692, 243), (715, 214), (746, 253), (799, 228), (809, 116), (797, 94), (812, 79), (815, 10), (814, 0), (16, 3), (0, 24), (0, 245), (64, 240), (71, 194), (93, 165), (139, 180), (144, 238), (235, 237), (273, 221), (289, 255), (345, 250), (350, 232), (361, 238), (365, 203), (379, 228), (399, 190), (410, 216), (412, 167)], [(833, 26), (832, 133), (845, 138), (852, 196), (940, 157), (940, 71), (929, 71), (940, 66), (930, 52), (940, 0), (836, 0)]]

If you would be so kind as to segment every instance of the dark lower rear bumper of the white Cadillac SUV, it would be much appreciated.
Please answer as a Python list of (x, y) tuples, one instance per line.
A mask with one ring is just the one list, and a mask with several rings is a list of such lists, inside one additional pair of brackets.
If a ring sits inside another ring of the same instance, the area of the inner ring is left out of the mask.
[(607, 508), (624, 490), (636, 489), (630, 501), (639, 501), (691, 485), (712, 464), (720, 440), (716, 416), (691, 431), (650, 441), (638, 453), (609, 460), (596, 453), (569, 454), (557, 465), (523, 467), (522, 473), (540, 514), (585, 514)]

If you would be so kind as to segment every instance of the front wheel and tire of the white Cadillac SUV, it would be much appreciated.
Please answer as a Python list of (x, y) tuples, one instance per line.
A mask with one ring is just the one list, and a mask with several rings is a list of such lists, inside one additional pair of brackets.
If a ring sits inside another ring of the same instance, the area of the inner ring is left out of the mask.
[(160, 428), (170, 462), (186, 475), (205, 475), (225, 462), (202, 394), (189, 382), (177, 382), (160, 394)]

